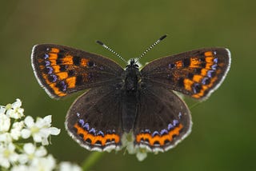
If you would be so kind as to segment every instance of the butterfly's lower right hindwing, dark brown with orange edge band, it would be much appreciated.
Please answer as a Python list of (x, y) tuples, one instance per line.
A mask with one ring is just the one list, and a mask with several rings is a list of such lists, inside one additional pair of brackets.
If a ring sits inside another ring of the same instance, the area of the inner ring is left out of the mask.
[(190, 133), (190, 110), (168, 89), (145, 85), (141, 89), (138, 113), (134, 124), (135, 147), (163, 152)]

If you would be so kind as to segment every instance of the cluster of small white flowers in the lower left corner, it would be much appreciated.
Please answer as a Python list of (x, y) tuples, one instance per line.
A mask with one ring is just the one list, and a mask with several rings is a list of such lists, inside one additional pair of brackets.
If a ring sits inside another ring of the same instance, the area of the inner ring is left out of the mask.
[[(22, 101), (0, 106), (0, 169), (30, 170), (82, 170), (78, 165), (64, 161), (59, 164), (44, 145), (49, 145), (50, 135), (58, 135), (60, 129), (51, 127), (51, 116), (24, 116)], [(24, 118), (25, 117), (25, 118)], [(23, 119), (24, 118), (24, 119)], [(21, 143), (31, 138), (33, 143)]]

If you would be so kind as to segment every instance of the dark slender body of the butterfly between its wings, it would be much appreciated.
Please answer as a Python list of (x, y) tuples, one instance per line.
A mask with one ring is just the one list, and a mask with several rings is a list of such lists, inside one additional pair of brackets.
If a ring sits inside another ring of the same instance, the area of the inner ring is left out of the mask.
[(122, 80), (122, 126), (124, 131), (129, 132), (134, 128), (137, 117), (140, 80), (138, 65), (133, 59), (126, 66)]

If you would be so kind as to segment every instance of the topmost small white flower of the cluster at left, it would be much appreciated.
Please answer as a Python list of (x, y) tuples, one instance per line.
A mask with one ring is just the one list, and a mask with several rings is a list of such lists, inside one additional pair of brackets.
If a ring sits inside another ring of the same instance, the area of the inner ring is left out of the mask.
[(6, 115), (14, 119), (22, 118), (24, 116), (24, 109), (21, 106), (22, 101), (17, 98), (13, 104), (6, 105)]

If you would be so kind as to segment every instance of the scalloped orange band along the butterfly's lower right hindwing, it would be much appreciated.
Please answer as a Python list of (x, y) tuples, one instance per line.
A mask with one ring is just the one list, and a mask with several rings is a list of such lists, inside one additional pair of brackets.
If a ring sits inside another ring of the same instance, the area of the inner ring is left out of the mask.
[(166, 140), (169, 140), (169, 141), (172, 141), (173, 140), (173, 136), (174, 135), (179, 135), (179, 132), (180, 130), (183, 128), (183, 125), (182, 124), (179, 124), (178, 127), (170, 130), (170, 132), (166, 135), (162, 135), (162, 136), (159, 136), (159, 135), (156, 135), (154, 137), (152, 137), (150, 135), (150, 133), (139, 133), (137, 136), (136, 136), (136, 141), (139, 143), (141, 140), (145, 140), (145, 139), (148, 139), (149, 140), (149, 143), (151, 146), (154, 146), (154, 142), (155, 141), (158, 141), (160, 145), (165, 145), (165, 141)]

